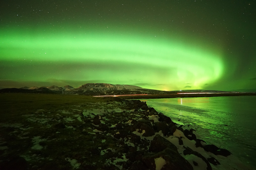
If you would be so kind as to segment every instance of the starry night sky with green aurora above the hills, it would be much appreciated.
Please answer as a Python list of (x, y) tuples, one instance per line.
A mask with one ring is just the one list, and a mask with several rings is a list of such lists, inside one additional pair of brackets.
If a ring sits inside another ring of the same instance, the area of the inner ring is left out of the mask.
[(0, 2), (0, 87), (256, 89), (256, 1)]

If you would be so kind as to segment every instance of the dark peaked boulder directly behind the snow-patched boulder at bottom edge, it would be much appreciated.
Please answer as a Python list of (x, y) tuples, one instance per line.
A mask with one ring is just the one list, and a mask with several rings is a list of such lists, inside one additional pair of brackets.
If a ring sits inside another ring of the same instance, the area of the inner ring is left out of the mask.
[(174, 144), (172, 144), (169, 140), (157, 134), (155, 135), (154, 139), (151, 141), (148, 151), (160, 152), (166, 149), (167, 147), (178, 153), (177, 147)]

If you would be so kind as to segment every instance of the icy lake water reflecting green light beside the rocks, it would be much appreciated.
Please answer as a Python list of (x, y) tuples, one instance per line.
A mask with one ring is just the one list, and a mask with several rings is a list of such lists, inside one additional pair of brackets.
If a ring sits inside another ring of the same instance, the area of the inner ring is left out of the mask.
[(256, 96), (145, 99), (179, 125), (196, 129), (207, 144), (228, 149), (256, 169)]

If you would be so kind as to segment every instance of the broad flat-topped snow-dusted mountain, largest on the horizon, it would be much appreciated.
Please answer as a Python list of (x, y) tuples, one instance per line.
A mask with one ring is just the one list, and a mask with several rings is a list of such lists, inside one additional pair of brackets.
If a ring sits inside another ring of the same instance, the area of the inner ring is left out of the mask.
[(93, 92), (103, 92), (109, 90), (127, 90), (127, 89), (143, 89), (139, 86), (133, 85), (121, 85), (121, 84), (107, 84), (107, 83), (87, 83), (84, 84), (75, 90), (83, 90), (83, 91), (93, 91)]

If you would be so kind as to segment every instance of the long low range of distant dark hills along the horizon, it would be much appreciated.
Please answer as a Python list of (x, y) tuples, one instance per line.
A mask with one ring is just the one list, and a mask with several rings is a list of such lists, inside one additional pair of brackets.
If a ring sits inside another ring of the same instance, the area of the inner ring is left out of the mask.
[[(78, 88), (72, 86), (43, 86), (43, 87), (22, 87), (22, 88), (5, 88), (0, 89), (0, 93), (50, 93), (50, 94), (70, 94), (70, 95), (89, 95), (89, 96), (115, 96), (115, 95), (134, 95), (134, 94), (147, 94), (147, 95), (177, 95), (177, 93), (183, 93), (182, 95), (188, 97), (189, 93), (201, 93), (203, 94), (220, 94), (229, 93), (236, 95), (242, 92), (226, 92), (216, 90), (180, 90), (180, 91), (161, 91), (144, 89), (139, 86), (133, 85), (121, 85), (121, 84), (107, 84), (107, 83), (87, 83)], [(225, 95), (225, 94), (224, 94)]]

